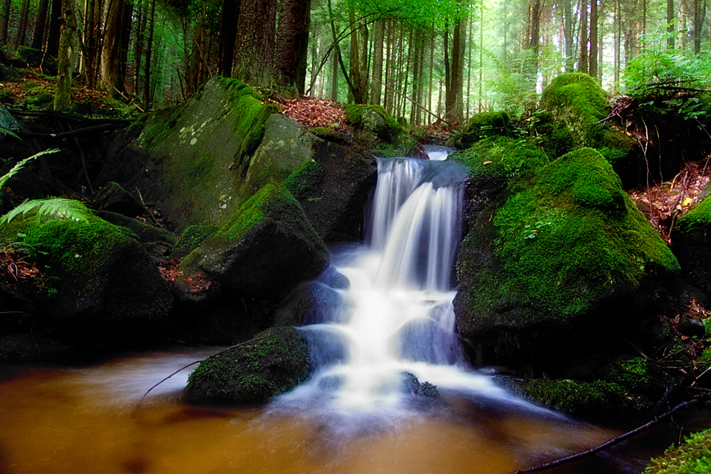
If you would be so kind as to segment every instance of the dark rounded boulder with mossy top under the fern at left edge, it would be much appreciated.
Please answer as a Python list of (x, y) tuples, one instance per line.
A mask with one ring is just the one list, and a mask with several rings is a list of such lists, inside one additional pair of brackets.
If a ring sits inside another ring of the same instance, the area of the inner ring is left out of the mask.
[(136, 328), (168, 316), (173, 296), (153, 259), (125, 227), (86, 211), (80, 217), (16, 216), (2, 229), (5, 242), (23, 244), (49, 277), (55, 294), (36, 302), (61, 325), (97, 332)]

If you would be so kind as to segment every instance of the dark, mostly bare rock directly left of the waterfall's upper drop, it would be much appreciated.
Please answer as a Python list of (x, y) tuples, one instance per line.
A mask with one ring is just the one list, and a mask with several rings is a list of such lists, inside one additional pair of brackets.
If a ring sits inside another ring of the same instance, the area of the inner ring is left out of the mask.
[(314, 159), (304, 163), (284, 186), (328, 245), (363, 237), (365, 203), (378, 175), (375, 158), (329, 141), (314, 145)]

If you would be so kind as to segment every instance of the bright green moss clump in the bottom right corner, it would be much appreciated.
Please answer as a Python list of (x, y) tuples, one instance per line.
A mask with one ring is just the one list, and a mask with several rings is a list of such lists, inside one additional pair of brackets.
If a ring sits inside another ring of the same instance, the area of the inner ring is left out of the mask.
[(670, 446), (654, 458), (643, 474), (706, 474), (711, 472), (711, 429), (688, 436), (681, 446)]

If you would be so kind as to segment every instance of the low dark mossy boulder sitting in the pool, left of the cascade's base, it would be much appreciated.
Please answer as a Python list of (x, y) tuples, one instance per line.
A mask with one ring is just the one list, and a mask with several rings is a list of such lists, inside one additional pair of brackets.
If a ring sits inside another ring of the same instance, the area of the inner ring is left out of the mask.
[(309, 347), (299, 330), (272, 328), (208, 357), (189, 379), (192, 402), (257, 404), (289, 391), (309, 376)]

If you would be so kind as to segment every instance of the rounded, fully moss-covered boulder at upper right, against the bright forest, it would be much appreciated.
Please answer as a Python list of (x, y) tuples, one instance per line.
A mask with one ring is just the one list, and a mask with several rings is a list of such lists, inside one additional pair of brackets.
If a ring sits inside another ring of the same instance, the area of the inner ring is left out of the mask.
[(624, 166), (635, 142), (602, 122), (608, 114), (607, 95), (597, 81), (582, 72), (567, 72), (543, 90), (535, 128), (551, 158), (589, 146), (613, 166)]

